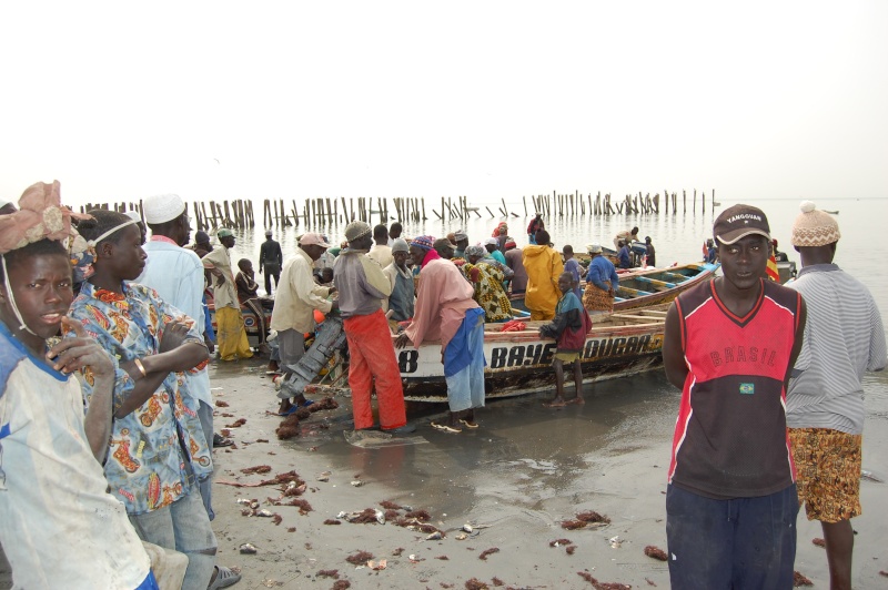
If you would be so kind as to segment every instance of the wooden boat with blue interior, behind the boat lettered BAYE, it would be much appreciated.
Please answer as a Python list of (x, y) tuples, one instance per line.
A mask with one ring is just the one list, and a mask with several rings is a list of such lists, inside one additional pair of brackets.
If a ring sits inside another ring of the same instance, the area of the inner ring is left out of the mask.
[[(683, 292), (712, 279), (719, 266), (719, 264), (694, 263), (620, 274), (619, 291), (614, 298), (614, 312), (669, 303)], [(585, 284), (582, 286), (585, 287)], [(512, 295), (511, 301), (513, 308), (527, 311), (523, 294)]]

